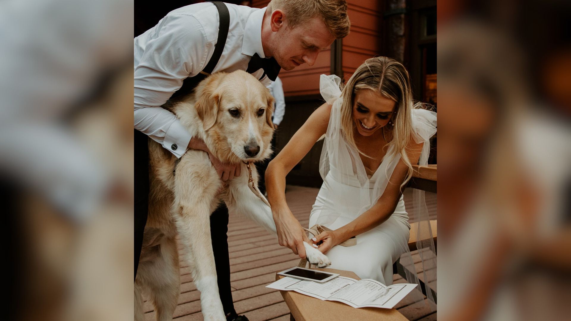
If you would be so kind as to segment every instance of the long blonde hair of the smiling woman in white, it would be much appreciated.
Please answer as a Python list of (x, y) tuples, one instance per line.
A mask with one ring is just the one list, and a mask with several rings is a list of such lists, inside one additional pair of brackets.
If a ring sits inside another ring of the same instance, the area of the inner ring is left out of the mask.
[(359, 150), (355, 143), (356, 125), (353, 121), (355, 95), (363, 89), (373, 90), (396, 102), (395, 113), (391, 117), (391, 122), (394, 124), (391, 126), (392, 139), (387, 145), (387, 147), (393, 145), (394, 149), (393, 153), (387, 154), (385, 157), (395, 158), (400, 154), (401, 159), (408, 166), (407, 178), (401, 184), (401, 188), (403, 188), (412, 177), (412, 164), (407, 155), (407, 146), (412, 139), (412, 110), (421, 108), (422, 104), (417, 103), (415, 105), (413, 103), (408, 71), (402, 63), (388, 57), (375, 57), (365, 60), (355, 70), (341, 92), (343, 99), (341, 102), (341, 133), (349, 145), (366, 157), (369, 156)]

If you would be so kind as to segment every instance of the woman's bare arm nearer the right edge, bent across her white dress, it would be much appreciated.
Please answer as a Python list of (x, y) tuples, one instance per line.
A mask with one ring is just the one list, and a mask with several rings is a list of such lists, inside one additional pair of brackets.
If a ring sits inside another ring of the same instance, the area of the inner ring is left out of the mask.
[[(413, 143), (409, 145), (407, 155), (411, 164), (417, 164), (419, 162), (422, 147), (423, 143)], [(359, 215), (356, 219), (340, 228), (337, 228), (337, 230), (329, 232), (325, 231), (317, 235), (317, 240), (313, 241), (313, 243), (317, 243), (320, 242), (320, 240), (323, 240), (319, 250), (323, 253), (326, 253), (327, 251), (331, 250), (333, 246), (336, 246), (344, 240), (347, 240), (352, 236), (367, 232), (373, 227), (379, 226), (395, 211), (401, 195), (400, 185), (404, 182), (407, 173), (408, 166), (401, 160), (396, 165), (395, 170), (389, 179), (389, 183), (387, 184), (387, 187), (385, 187), (383, 195), (381, 195), (375, 205), (373, 205), (363, 214)]]

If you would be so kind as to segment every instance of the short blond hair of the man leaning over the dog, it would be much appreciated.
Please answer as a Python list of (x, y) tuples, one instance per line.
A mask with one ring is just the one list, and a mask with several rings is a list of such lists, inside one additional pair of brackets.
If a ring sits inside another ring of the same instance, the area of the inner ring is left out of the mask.
[(272, 0), (268, 3), (267, 14), (283, 10), (289, 27), (295, 27), (311, 18), (319, 17), (335, 38), (349, 34), (346, 0)]

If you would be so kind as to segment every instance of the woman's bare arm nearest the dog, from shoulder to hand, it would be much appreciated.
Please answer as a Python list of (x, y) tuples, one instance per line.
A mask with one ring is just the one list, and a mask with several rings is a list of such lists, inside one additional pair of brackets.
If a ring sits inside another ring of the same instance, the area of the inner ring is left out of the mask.
[(268, 164), (266, 170), (266, 190), (278, 231), (278, 242), (281, 246), (291, 248), (300, 258), (305, 258), (303, 241), (309, 243), (309, 240), (287, 206), (286, 175), (325, 134), (330, 113), (331, 105), (327, 103), (313, 111), (286, 147)]

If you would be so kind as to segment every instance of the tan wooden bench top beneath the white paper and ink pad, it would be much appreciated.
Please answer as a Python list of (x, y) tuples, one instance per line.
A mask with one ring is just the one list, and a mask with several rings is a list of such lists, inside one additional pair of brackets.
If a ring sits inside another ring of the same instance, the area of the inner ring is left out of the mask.
[[(341, 276), (360, 280), (359, 276), (351, 271), (335, 270), (333, 268), (316, 268), (316, 270), (339, 273)], [(276, 274), (276, 280), (283, 277)], [(295, 321), (408, 320), (394, 308), (353, 308), (345, 303), (324, 301), (295, 291), (280, 292), (291, 312), (290, 319)]]

